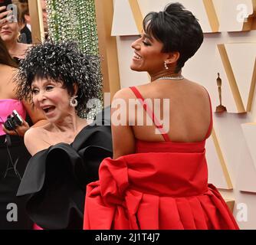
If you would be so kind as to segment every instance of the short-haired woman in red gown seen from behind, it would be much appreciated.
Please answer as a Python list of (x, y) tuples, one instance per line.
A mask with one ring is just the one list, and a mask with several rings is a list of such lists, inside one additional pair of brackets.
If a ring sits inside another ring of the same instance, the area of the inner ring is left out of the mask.
[(87, 185), (84, 229), (238, 229), (208, 184), (208, 93), (182, 76), (202, 41), (199, 22), (179, 3), (144, 18), (130, 67), (147, 71), (151, 83), (113, 98), (113, 159), (105, 158), (99, 181)]

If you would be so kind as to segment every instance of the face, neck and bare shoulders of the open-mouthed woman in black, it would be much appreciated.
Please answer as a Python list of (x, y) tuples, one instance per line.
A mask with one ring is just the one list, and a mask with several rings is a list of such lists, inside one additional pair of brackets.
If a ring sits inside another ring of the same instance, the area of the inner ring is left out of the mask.
[[(25, 133), (25, 145), (31, 155), (57, 143), (73, 142), (80, 130), (87, 126), (87, 121), (80, 119), (74, 107), (70, 106), (71, 95), (63, 83), (39, 78), (31, 84), (31, 91), (34, 106), (44, 113), (48, 121), (46, 125)], [(74, 91), (76, 94), (76, 85)]]

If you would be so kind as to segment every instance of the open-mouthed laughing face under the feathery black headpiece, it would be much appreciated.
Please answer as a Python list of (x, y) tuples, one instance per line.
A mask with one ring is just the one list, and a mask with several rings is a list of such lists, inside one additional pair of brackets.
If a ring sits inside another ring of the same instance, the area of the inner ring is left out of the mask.
[(74, 114), (74, 107), (69, 104), (71, 96), (63, 83), (38, 78), (31, 84), (31, 91), (34, 106), (44, 112), (49, 122), (57, 123), (65, 116)]

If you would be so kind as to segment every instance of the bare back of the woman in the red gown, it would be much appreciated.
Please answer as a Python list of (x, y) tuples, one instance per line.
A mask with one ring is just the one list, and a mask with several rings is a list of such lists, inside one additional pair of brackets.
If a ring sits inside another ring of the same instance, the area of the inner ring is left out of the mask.
[[(169, 108), (166, 109), (161, 103), (159, 112), (161, 119), (163, 116), (169, 116), (169, 130), (166, 132), (172, 142), (200, 142), (205, 139), (211, 123), (211, 107), (208, 93), (202, 86), (189, 80), (159, 80), (137, 89), (144, 99), (150, 99), (152, 103), (154, 99), (169, 99)], [(135, 98), (134, 93), (130, 93), (130, 96)], [(136, 139), (164, 141), (160, 134), (156, 134), (156, 126), (137, 126), (142, 113), (134, 114), (136, 123), (133, 126), (133, 134)], [(147, 117), (144, 110), (144, 122)]]

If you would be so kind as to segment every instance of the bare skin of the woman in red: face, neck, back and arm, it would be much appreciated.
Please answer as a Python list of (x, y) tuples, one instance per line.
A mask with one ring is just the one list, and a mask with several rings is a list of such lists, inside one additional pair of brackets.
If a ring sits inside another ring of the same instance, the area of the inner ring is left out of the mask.
[[(175, 73), (179, 52), (162, 53), (162, 47), (160, 41), (144, 32), (142, 37), (133, 42), (134, 56), (130, 68), (146, 71), (151, 77), (151, 83), (138, 86), (137, 89), (145, 99), (152, 101), (169, 99), (169, 111), (163, 111), (161, 105), (160, 112), (162, 115), (169, 115), (169, 126), (166, 127), (169, 128), (169, 132), (166, 133), (172, 142), (200, 142), (205, 139), (211, 119), (208, 94), (201, 85), (187, 79), (157, 80), (159, 77), (175, 77), (181, 74)], [(169, 70), (164, 67), (165, 61)], [(130, 99), (135, 98), (129, 88), (120, 90), (113, 96), (113, 100), (125, 100), (126, 105), (129, 104)], [(111, 108), (112, 116), (117, 116), (117, 109), (119, 108)], [(130, 112), (129, 109), (127, 106), (126, 126), (111, 125), (113, 158), (135, 153), (138, 139), (147, 142), (164, 142), (162, 136), (156, 134), (155, 126), (138, 126), (136, 109), (135, 111), (131, 109)], [(143, 115), (139, 116), (146, 122), (144, 111)], [(135, 122), (135, 126), (129, 126), (129, 119)]]

